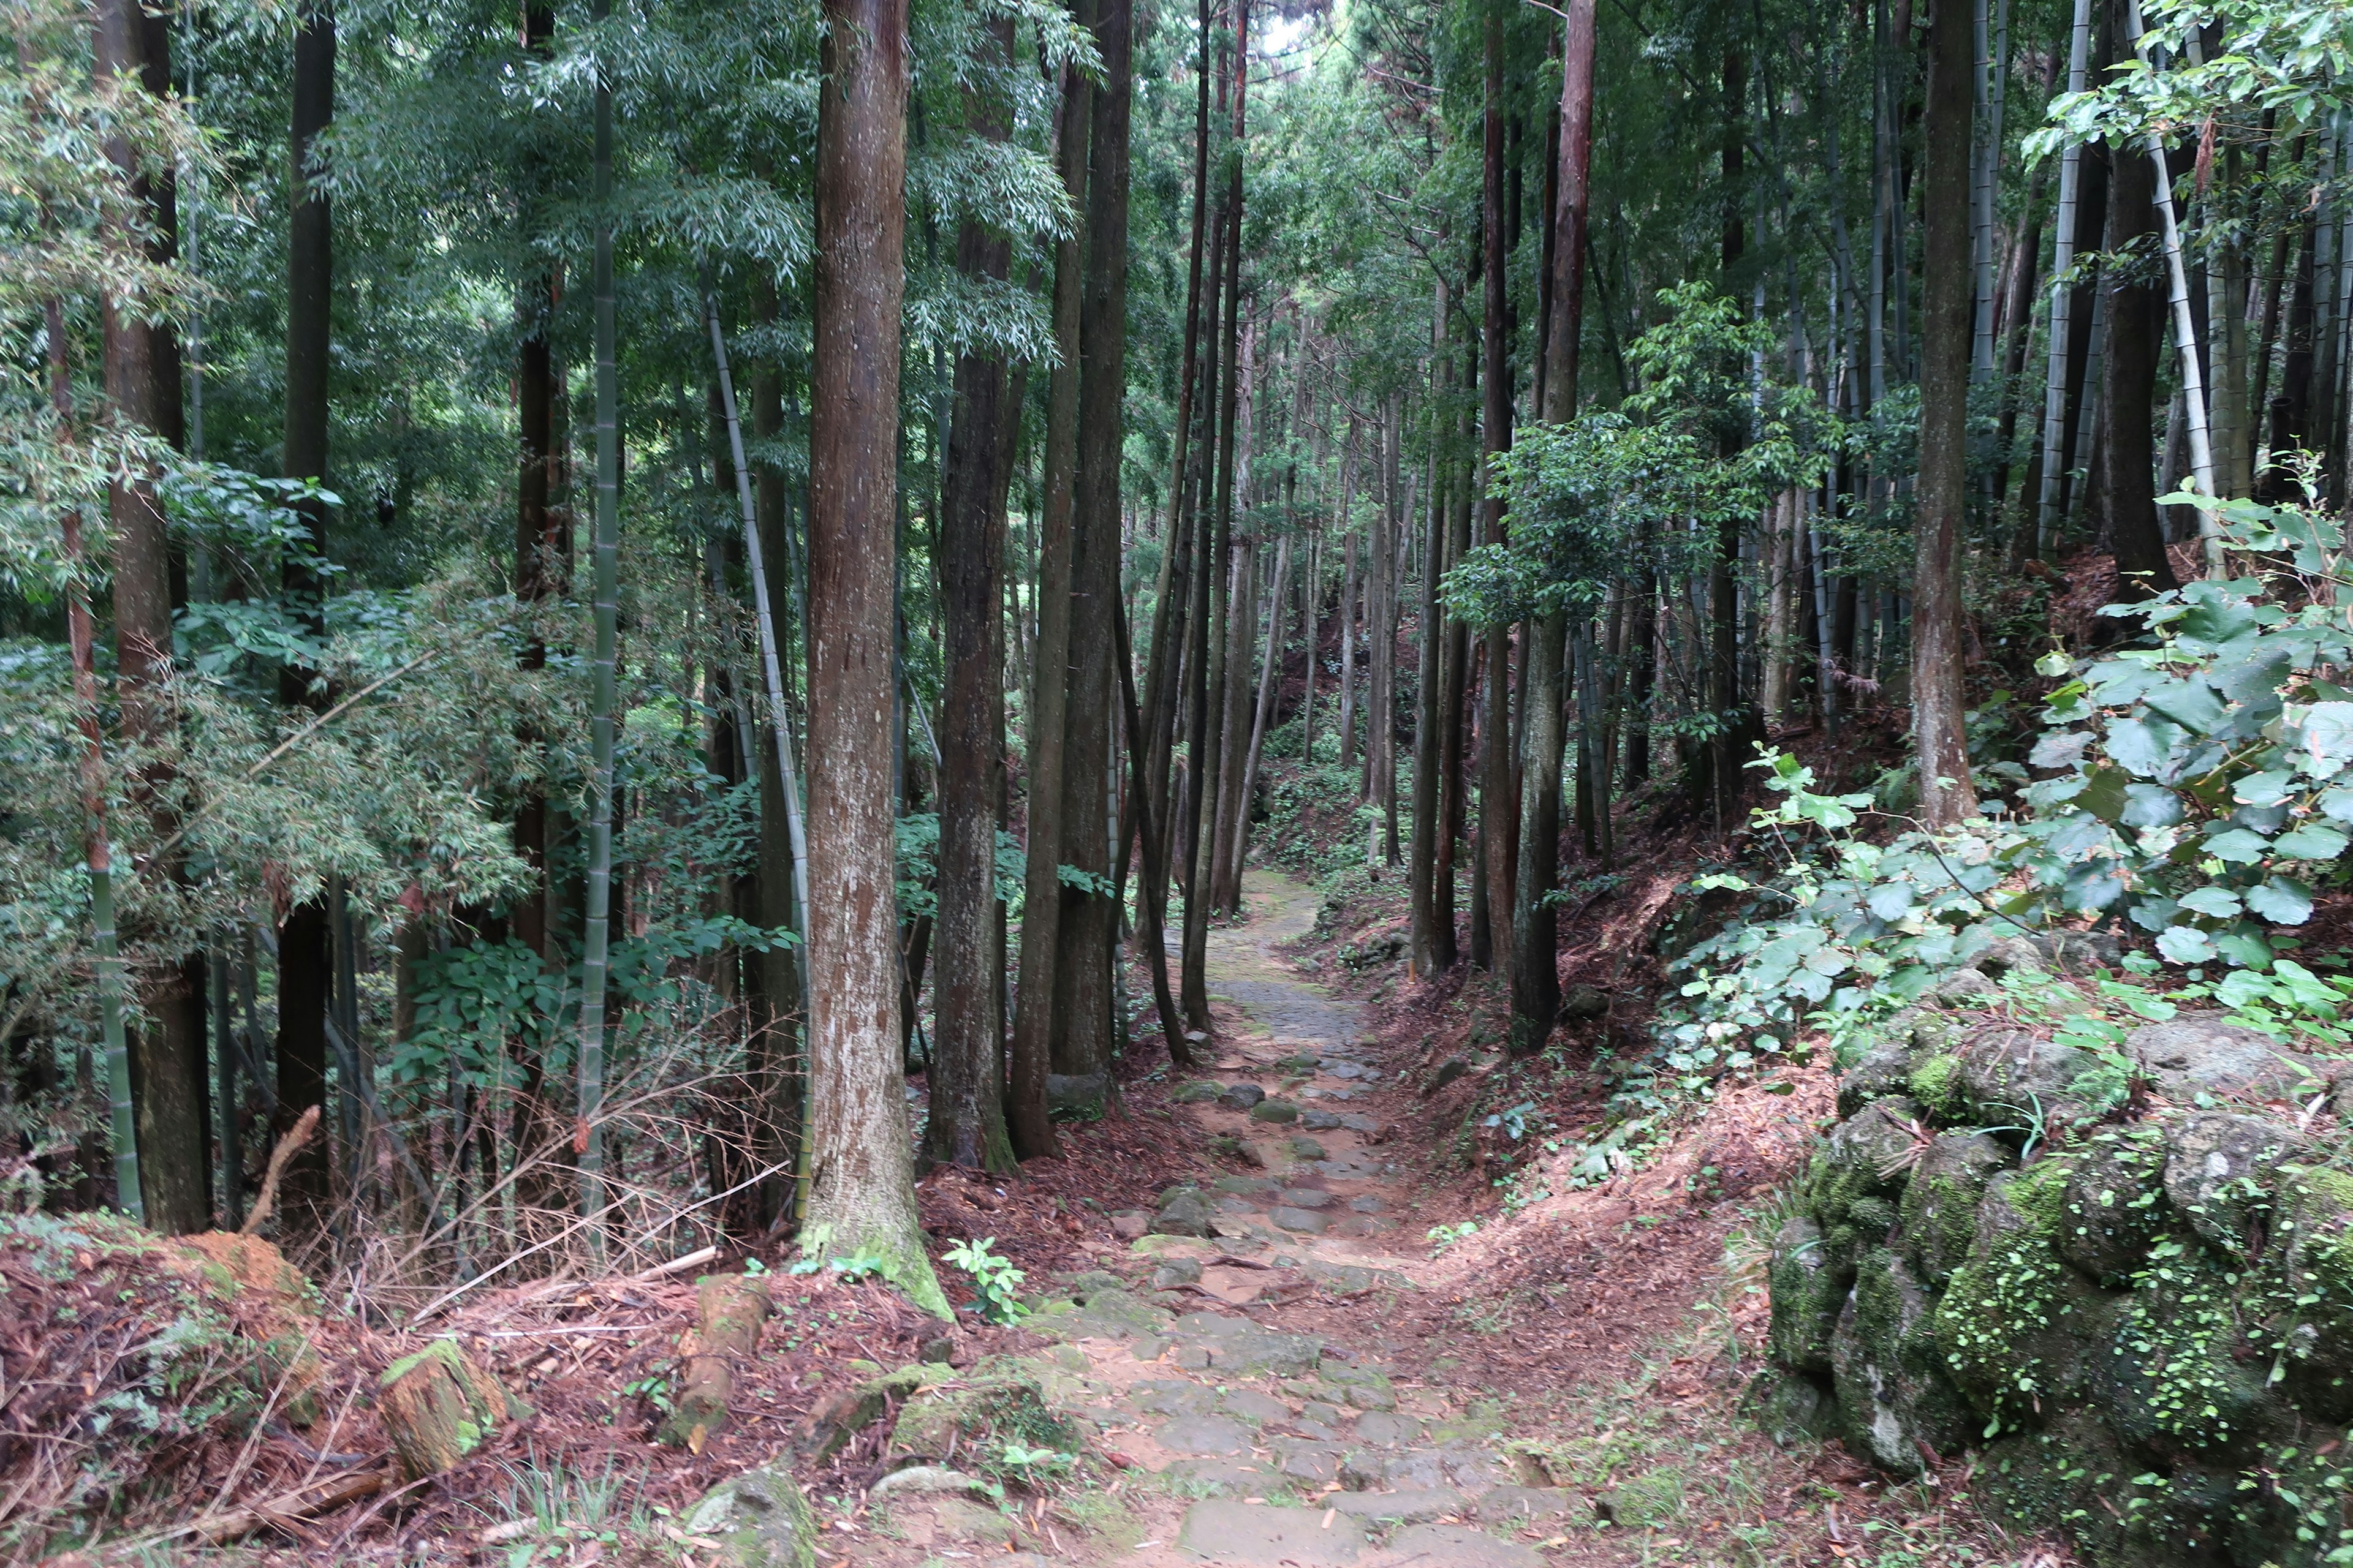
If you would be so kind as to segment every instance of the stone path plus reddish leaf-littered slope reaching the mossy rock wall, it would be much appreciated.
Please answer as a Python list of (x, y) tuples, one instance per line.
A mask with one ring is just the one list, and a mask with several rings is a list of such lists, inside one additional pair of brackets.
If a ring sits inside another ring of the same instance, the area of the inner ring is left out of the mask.
[(833, 1521), (828, 1556), (2066, 1561), (1969, 1509), (1967, 1460), (1892, 1486), (1835, 1443), (1777, 1443), (1746, 1413), (1767, 1319), (1760, 1232), (1831, 1110), (1824, 1067), (1727, 1091), (1638, 1173), (1548, 1182), (1560, 1192), (1499, 1215), (1485, 1182), (1442, 1173), (1459, 1133), (1433, 1103), (1461, 1121), (1447, 1088), (1501, 1060), (1471, 1046), (1433, 1063), (1431, 1018), (1311, 978), (1329, 969), (1334, 933), (1304, 884), (1254, 870), (1247, 905), (1209, 943), (1209, 985), (1233, 1013), (1221, 1009), (1231, 1023), (1202, 1077), (1226, 1093), (1195, 1098), (1209, 1093), (1198, 1079), (1144, 1088), (1176, 1100), (1151, 1110), (1226, 1173), (1200, 1199), (1099, 1190), (1125, 1229), (1158, 1201), (1160, 1218), (1205, 1208), (1209, 1234), (1085, 1246), (1094, 1269), (1061, 1274), (1085, 1305), (1024, 1335), (1056, 1342), (1045, 1363), (1068, 1375), (1061, 1399), (1108, 1462), (1026, 1507), (880, 1488)]

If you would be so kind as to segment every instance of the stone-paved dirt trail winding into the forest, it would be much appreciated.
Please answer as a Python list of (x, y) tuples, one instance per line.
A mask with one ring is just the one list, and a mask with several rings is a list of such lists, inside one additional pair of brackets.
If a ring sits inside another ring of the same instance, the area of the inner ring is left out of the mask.
[[(1379, 1326), (1400, 1314), (1381, 1307), (1431, 1269), (1417, 1178), (1381, 1145), (1409, 1091), (1360, 1009), (1280, 952), (1311, 931), (1315, 893), (1259, 870), (1245, 893), (1252, 919), (1209, 938), (1209, 990), (1252, 1032), (1219, 1041), (1202, 1074), (1217, 1091), (1188, 1081), (1176, 1098), (1205, 1143), (1233, 1140), (1224, 1152), (1240, 1145), (1259, 1173), (1118, 1194), (1158, 1197), (1120, 1215), (1153, 1222), (1122, 1279), (1085, 1274), (1031, 1321), (1059, 1340), (1047, 1361), (1125, 1472), (1033, 1514), (885, 1486), (882, 1530), (854, 1559), (1541, 1568), (1565, 1544), (1572, 1497), (1501, 1446), (1499, 1410), (1393, 1361)], [(1184, 1229), (1205, 1234), (1162, 1234)]]

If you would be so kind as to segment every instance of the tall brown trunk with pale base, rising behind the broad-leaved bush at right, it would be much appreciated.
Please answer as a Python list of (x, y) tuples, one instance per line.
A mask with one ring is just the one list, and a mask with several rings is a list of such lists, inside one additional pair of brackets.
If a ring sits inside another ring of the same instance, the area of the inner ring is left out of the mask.
[(1927, 42), (1920, 287), (1920, 512), (1913, 524), (1913, 752), (1920, 818), (1977, 813), (1962, 729), (1960, 550), (1969, 508), (1969, 14), (1941, 0)]

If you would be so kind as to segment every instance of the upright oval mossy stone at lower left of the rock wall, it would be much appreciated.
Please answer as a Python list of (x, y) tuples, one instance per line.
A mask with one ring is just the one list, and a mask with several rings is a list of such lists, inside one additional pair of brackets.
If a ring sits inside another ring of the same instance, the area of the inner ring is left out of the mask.
[(1944, 1371), (1932, 1300), (1892, 1248), (1864, 1253), (1831, 1338), (1831, 1378), (1847, 1443), (1873, 1465), (1915, 1476), (1932, 1453), (1974, 1436), (1969, 1406)]

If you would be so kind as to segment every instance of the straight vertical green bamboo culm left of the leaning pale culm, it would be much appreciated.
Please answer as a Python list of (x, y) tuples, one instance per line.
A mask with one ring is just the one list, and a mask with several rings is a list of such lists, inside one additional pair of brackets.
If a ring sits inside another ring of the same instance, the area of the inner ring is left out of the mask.
[[(593, 16), (605, 21), (609, 0)], [(588, 931), (581, 954), (581, 1105), (574, 1150), (581, 1161), (581, 1218), (588, 1251), (602, 1258), (605, 1211), (605, 976), (612, 926), (612, 710), (616, 599), (621, 597), (621, 376), (614, 364), (612, 310), (612, 82), (598, 66), (595, 85), (595, 686), (588, 741)]]

